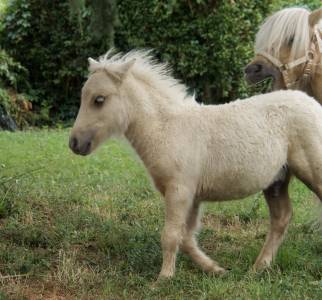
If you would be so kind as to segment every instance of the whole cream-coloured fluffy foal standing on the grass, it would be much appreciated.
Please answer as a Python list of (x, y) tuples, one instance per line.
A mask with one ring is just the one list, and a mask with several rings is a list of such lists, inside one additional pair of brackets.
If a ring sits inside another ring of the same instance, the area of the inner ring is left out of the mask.
[(201, 201), (259, 191), (271, 227), (255, 267), (270, 265), (292, 214), (290, 173), (322, 199), (322, 107), (299, 91), (199, 105), (146, 52), (89, 61), (70, 148), (88, 155), (124, 134), (137, 151), (166, 203), (159, 278), (173, 276), (179, 248), (203, 270), (224, 272), (195, 239)]

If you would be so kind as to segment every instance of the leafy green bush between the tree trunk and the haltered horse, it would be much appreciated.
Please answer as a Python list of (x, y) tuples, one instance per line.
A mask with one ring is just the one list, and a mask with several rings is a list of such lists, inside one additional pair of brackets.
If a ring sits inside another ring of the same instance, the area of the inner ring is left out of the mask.
[(121, 27), (116, 45), (156, 49), (176, 76), (208, 103), (247, 95), (243, 68), (252, 56), (254, 34), (271, 1), (118, 2)]

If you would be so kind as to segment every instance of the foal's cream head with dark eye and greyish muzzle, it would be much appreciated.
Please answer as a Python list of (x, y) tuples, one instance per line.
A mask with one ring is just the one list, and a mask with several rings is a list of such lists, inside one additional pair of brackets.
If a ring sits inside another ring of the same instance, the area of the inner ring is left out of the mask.
[(135, 60), (113, 62), (108, 55), (99, 61), (89, 58), (90, 76), (83, 86), (69, 138), (69, 147), (76, 154), (90, 154), (110, 136), (123, 134), (128, 125), (126, 99), (120, 86)]

